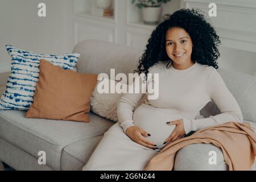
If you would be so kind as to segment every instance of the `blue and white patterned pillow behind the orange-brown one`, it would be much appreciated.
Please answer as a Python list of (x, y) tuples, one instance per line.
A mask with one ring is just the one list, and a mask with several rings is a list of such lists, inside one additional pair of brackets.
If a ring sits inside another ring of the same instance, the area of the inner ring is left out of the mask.
[(80, 53), (67, 55), (45, 55), (13, 46), (6, 46), (11, 59), (11, 74), (6, 91), (0, 100), (0, 110), (28, 110), (33, 103), (36, 82), (39, 77), (40, 59), (45, 59), (64, 69), (76, 71)]

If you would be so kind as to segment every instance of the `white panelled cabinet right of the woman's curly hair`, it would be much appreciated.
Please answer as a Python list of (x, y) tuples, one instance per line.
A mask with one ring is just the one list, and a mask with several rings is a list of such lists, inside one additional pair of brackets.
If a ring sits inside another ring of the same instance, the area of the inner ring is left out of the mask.
[[(217, 6), (217, 16), (209, 17), (209, 3)], [(256, 76), (256, 1), (184, 0), (185, 7), (205, 12), (220, 36), (219, 67)]]

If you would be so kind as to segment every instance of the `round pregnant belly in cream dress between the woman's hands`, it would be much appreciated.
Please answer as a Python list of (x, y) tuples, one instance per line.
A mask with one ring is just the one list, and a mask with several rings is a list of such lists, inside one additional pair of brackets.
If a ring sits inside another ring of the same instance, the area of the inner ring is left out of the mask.
[[(179, 116), (180, 117), (180, 116)], [(174, 121), (175, 112), (142, 104), (133, 114), (134, 125), (151, 134), (148, 140), (154, 142), (159, 149), (164, 147), (164, 140), (172, 133), (176, 125), (167, 125), (167, 121)]]

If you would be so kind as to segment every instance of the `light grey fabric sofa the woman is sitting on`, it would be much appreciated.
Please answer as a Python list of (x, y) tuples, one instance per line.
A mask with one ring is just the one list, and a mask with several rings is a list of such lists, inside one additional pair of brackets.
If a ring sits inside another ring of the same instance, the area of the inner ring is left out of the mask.
[[(77, 71), (81, 73), (133, 73), (139, 56), (135, 49), (100, 40), (78, 43), (73, 52), (81, 53)], [(243, 119), (256, 122), (256, 77), (218, 69), (241, 107)], [(26, 111), (0, 111), (1, 161), (16, 170), (81, 170), (115, 122), (90, 111), (90, 123), (25, 118)], [(209, 102), (201, 110), (204, 117), (218, 113)], [(46, 164), (38, 164), (38, 152), (46, 152)]]

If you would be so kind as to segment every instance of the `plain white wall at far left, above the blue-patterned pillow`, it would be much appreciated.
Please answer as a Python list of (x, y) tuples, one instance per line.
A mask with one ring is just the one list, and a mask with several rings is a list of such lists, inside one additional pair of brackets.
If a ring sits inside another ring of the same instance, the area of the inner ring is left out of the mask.
[[(46, 17), (38, 3), (46, 3)], [(70, 0), (0, 0), (0, 73), (10, 71), (5, 45), (39, 53), (69, 53), (73, 47)]]

